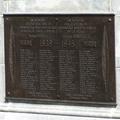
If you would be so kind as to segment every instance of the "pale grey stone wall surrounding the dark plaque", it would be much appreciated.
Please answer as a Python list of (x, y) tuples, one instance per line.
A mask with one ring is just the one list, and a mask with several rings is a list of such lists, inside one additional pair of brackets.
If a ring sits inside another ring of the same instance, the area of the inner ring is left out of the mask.
[[(4, 24), (8, 13), (114, 13), (117, 107), (80, 107), (4, 103)], [(0, 120), (120, 119), (120, 0), (0, 0)], [(17, 113), (16, 113), (17, 112)], [(32, 114), (31, 114), (32, 113)]]

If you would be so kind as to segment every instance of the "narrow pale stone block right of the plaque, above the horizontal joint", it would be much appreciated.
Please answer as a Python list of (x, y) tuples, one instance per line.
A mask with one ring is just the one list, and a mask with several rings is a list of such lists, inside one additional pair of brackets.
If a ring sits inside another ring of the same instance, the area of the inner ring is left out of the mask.
[(115, 56), (116, 67), (120, 67), (120, 16), (115, 17)]

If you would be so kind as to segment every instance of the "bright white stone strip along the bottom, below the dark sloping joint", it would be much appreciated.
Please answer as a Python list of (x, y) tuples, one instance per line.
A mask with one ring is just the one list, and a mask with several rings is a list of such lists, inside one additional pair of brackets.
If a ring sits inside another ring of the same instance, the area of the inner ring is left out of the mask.
[[(43, 114), (25, 114), (25, 113), (0, 113), (1, 120), (108, 120), (108, 118), (92, 118), (77, 116), (59, 116)], [(115, 120), (115, 119), (112, 119)]]

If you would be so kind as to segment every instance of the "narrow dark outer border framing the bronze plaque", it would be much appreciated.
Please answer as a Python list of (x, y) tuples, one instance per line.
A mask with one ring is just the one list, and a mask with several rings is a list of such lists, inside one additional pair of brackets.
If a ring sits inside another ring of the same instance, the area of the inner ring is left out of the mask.
[[(3, 17), (4, 17), (4, 20), (6, 17), (19, 17), (19, 16), (110, 16), (110, 17), (113, 17), (113, 20), (114, 20), (114, 14), (74, 14), (74, 13), (51, 13), (51, 14), (4, 14)], [(113, 21), (113, 24), (114, 24), (114, 21)], [(113, 25), (115, 26), (115, 25)], [(5, 28), (5, 22), (4, 22), (4, 28)], [(7, 43), (7, 37), (6, 37), (6, 34), (5, 34), (5, 29), (4, 29), (4, 38), (5, 38), (5, 44), (4, 44), (4, 48), (5, 48), (5, 81), (6, 83), (10, 81), (8, 81), (8, 75), (9, 75), (9, 71), (8, 71), (8, 68), (7, 68), (7, 65), (8, 65), (8, 48), (6, 48), (6, 45), (8, 45)], [(109, 51), (110, 51), (110, 57), (111, 57), (111, 63), (112, 65), (110, 65), (110, 69), (109, 69), (109, 75), (114, 78), (111, 80), (110, 82), (110, 87), (112, 87), (111, 89), (111, 93), (112, 95), (114, 95), (114, 98), (115, 98), (115, 101), (114, 102), (88, 102), (88, 101), (71, 101), (71, 100), (49, 100), (49, 99), (32, 99), (32, 98), (14, 98), (14, 97), (8, 97), (7, 94), (9, 92), (8, 88), (9, 88), (9, 85), (6, 84), (6, 96), (5, 96), (5, 102), (15, 102), (15, 103), (35, 103), (35, 104), (53, 104), (53, 105), (80, 105), (80, 106), (97, 106), (97, 107), (115, 107), (117, 105), (116, 103), (116, 78), (115, 78), (115, 27), (113, 27), (113, 30), (112, 30), (112, 37), (110, 38), (110, 42), (112, 44), (110, 44), (112, 47)], [(109, 76), (109, 77), (110, 77)]]

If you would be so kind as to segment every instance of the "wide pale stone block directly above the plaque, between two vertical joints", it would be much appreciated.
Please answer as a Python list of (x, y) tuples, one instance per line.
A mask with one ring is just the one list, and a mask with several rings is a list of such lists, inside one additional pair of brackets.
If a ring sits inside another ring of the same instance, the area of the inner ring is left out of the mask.
[(108, 12), (109, 0), (9, 0), (8, 12)]

